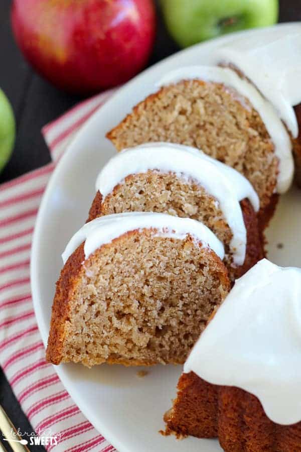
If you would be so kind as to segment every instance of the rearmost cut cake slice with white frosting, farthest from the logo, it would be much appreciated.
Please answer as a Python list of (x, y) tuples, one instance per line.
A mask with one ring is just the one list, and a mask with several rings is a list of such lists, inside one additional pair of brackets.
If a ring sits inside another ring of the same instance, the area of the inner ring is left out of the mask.
[(155, 141), (201, 149), (251, 182), (267, 225), (293, 176), (291, 140), (273, 106), (228, 67), (177, 69), (159, 85), (107, 138), (118, 151)]

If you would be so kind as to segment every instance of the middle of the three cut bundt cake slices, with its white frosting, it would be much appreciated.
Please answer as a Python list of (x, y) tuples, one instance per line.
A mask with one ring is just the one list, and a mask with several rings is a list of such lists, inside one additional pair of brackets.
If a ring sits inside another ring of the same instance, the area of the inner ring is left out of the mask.
[(100, 172), (89, 220), (155, 211), (202, 221), (225, 246), (231, 280), (263, 258), (259, 199), (233, 168), (195, 148), (148, 143), (126, 149)]

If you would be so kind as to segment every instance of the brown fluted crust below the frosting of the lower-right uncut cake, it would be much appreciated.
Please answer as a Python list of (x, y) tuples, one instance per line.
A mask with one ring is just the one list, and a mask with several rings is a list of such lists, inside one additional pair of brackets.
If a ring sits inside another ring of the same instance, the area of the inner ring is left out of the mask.
[(225, 452), (300, 452), (301, 422), (279, 425), (252, 394), (182, 374), (173, 407), (165, 414), (166, 434), (218, 437)]

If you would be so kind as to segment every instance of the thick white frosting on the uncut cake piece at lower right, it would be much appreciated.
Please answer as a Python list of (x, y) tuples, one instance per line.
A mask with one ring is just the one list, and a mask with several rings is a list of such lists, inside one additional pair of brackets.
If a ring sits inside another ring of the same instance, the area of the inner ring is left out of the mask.
[(301, 421), (301, 269), (263, 259), (238, 279), (184, 372), (254, 394), (279, 424)]

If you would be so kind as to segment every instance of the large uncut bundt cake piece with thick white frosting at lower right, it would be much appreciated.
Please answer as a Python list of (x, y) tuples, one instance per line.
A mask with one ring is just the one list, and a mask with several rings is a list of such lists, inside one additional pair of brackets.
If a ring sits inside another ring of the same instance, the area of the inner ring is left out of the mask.
[(166, 433), (300, 452), (300, 300), (301, 269), (263, 259), (237, 280), (184, 365)]

